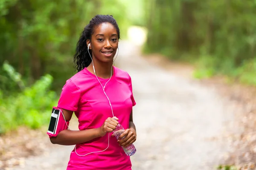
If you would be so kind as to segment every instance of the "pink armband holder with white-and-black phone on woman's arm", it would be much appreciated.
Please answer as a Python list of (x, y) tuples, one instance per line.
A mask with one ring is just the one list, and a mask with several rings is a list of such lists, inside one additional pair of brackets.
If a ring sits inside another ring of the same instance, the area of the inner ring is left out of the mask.
[(49, 138), (55, 137), (60, 131), (68, 129), (68, 125), (69, 122), (66, 122), (61, 108), (53, 106), (51, 119), (47, 131), (47, 135), (49, 135)]

